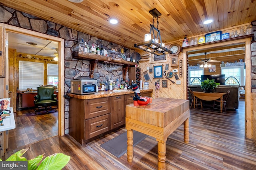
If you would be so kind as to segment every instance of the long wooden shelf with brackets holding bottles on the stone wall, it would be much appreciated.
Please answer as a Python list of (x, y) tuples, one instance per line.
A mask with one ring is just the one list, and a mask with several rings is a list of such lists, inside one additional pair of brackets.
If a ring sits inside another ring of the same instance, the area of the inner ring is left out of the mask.
[(138, 63), (126, 61), (122, 58), (115, 58), (115, 57), (105, 57), (102, 55), (92, 54), (92, 53), (83, 53), (83, 52), (74, 52), (72, 53), (72, 57), (75, 59), (85, 59), (90, 61), (90, 78), (93, 78), (93, 72), (95, 66), (97, 66), (97, 63), (116, 63), (123, 65), (123, 79), (125, 80), (126, 72), (129, 66), (135, 66), (138, 65)]

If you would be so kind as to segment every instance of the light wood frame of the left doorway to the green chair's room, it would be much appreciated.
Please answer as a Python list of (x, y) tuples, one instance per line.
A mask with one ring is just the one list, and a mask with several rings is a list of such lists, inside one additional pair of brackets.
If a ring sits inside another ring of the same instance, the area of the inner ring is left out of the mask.
[[(29, 35), (32, 37), (37, 37), (40, 39), (47, 39), (47, 40), (52, 40), (52, 41), (56, 41), (59, 43), (59, 58), (58, 58), (58, 64), (59, 64), (59, 85), (58, 85), (58, 134), (59, 136), (63, 136), (65, 135), (65, 98), (64, 98), (64, 94), (65, 94), (65, 84), (64, 84), (64, 61), (65, 61), (65, 55), (64, 55), (64, 39), (59, 38), (59, 37), (54, 37), (52, 35), (47, 35), (44, 33), (38, 33), (36, 31), (31, 31), (28, 29), (23, 29), (20, 27), (15, 27), (12, 25), (7, 25), (4, 23), (0, 23), (0, 27), (3, 27), (5, 29), (5, 36), (6, 36), (6, 31), (7, 32), (14, 32), (14, 33), (20, 33), (20, 34), (25, 34), (25, 35)], [(6, 37), (2, 37), (4, 39), (6, 39)], [(6, 43), (6, 42), (5, 42)], [(8, 51), (8, 50), (6, 50)], [(9, 66), (8, 66), (8, 56), (7, 53), (5, 53), (6, 57), (6, 69), (5, 69), (5, 81), (9, 78), (8, 76), (8, 70), (9, 70)], [(4, 86), (5, 84), (2, 84), (2, 81), (0, 82), (0, 86)], [(8, 90), (6, 90), (7, 92), (4, 93), (4, 97), (8, 97)]]

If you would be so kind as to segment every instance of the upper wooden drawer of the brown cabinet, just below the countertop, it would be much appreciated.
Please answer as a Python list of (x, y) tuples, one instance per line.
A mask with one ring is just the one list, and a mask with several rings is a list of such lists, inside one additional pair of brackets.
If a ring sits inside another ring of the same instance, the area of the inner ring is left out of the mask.
[(85, 119), (101, 116), (111, 112), (111, 98), (86, 100)]

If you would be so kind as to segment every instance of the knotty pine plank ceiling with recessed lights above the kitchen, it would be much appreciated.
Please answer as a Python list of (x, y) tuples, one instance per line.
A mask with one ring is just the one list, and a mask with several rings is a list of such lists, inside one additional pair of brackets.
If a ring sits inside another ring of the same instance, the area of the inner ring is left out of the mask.
[[(1, 0), (0, 4), (130, 49), (149, 33), (153, 8), (162, 13), (158, 29), (165, 43), (256, 20), (255, 0)], [(118, 24), (110, 24), (111, 18)], [(214, 22), (204, 25), (207, 18)], [(156, 19), (154, 23), (156, 27)]]

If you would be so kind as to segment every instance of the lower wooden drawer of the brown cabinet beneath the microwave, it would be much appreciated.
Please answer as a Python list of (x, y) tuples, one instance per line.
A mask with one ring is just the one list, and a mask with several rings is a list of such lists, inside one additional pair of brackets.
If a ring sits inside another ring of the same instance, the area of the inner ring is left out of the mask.
[(85, 121), (85, 140), (109, 131), (111, 127), (111, 113), (94, 117)]

